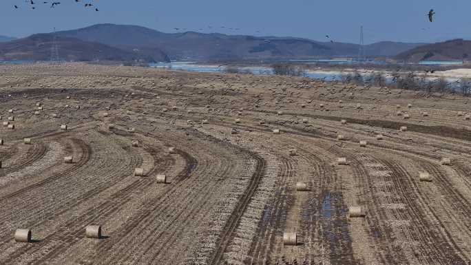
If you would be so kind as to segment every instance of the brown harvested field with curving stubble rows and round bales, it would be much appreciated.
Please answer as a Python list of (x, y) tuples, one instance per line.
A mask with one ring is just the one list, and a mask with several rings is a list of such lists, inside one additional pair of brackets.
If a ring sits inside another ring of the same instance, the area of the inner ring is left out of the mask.
[(0, 264), (471, 262), (468, 98), (79, 63), (0, 92)]

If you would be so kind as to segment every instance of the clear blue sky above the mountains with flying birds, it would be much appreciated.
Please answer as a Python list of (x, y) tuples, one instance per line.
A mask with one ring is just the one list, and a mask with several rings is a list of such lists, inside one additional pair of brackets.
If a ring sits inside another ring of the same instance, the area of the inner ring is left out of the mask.
[[(318, 41), (326, 41), (328, 34), (334, 41), (357, 43), (359, 26), (364, 25), (365, 43), (471, 39), (470, 0), (53, 0), (61, 2), (56, 8), (43, 4), (51, 0), (33, 0), (36, 10), (25, 1), (0, 0), (0, 35), (22, 37), (54, 27), (117, 23), (162, 32), (186, 28)], [(94, 3), (99, 11), (84, 3)], [(431, 8), (437, 13), (434, 23), (426, 17)]]

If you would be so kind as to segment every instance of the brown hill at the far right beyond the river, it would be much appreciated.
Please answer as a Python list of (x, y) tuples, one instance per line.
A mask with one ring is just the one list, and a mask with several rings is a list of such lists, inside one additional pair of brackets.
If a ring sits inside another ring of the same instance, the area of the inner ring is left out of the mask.
[(432, 43), (401, 52), (395, 59), (416, 63), (418, 61), (469, 60), (471, 41), (454, 39), (441, 43)]

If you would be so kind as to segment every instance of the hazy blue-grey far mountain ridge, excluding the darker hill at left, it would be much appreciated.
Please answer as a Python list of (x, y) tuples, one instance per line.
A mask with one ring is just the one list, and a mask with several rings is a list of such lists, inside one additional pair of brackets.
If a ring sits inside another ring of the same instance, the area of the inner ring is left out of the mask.
[[(98, 24), (58, 34), (125, 49), (137, 48), (146, 51), (158, 47), (171, 59), (176, 60), (308, 59), (316, 56), (357, 56), (359, 50), (359, 45), (352, 43), (219, 33), (163, 33), (136, 25)], [(374, 43), (365, 45), (364, 53), (366, 56), (395, 56), (421, 44)]]

